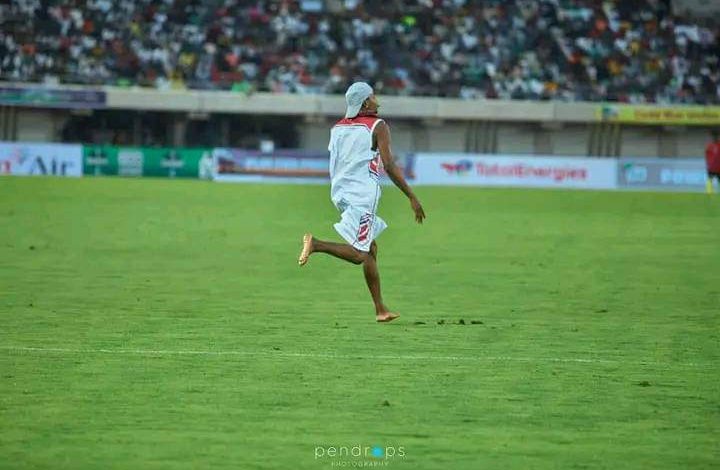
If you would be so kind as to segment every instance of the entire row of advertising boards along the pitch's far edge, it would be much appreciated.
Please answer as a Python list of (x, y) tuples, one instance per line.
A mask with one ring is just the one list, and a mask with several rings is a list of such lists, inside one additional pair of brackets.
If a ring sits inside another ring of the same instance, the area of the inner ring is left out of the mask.
[[(417, 153), (401, 159), (412, 184), (704, 191), (701, 158), (588, 158)], [(221, 182), (327, 184), (325, 151), (149, 148), (0, 142), (0, 175), (153, 176)], [(388, 184), (387, 176), (382, 182)]]

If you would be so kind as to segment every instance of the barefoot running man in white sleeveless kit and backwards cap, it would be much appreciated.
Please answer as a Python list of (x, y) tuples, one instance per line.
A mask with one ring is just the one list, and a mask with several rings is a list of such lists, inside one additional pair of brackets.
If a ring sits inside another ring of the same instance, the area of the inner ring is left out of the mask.
[(347, 243), (318, 240), (306, 233), (298, 263), (304, 266), (311, 254), (327, 253), (362, 264), (365, 282), (375, 303), (375, 319), (389, 322), (399, 315), (383, 303), (377, 269), (375, 239), (387, 228), (385, 221), (377, 216), (381, 162), (392, 182), (410, 199), (418, 223), (425, 219), (425, 212), (393, 160), (390, 129), (377, 115), (380, 105), (373, 89), (364, 82), (353, 83), (345, 93), (345, 101), (345, 119), (330, 131), (328, 150), (330, 199), (341, 213), (335, 230)]

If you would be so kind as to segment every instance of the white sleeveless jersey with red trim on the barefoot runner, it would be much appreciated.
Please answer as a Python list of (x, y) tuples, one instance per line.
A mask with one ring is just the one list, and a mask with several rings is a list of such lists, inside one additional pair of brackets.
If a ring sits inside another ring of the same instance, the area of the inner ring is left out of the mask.
[(347, 206), (377, 209), (381, 162), (373, 132), (380, 122), (375, 116), (346, 118), (330, 131), (330, 199), (341, 211)]

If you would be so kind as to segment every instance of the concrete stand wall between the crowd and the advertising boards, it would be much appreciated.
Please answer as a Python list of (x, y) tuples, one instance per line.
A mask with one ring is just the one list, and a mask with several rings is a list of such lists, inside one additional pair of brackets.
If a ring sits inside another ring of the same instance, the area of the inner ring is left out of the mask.
[[(28, 88), (26, 84), (0, 86)], [(55, 89), (93, 90), (78, 86)], [(277, 141), (276, 147), (324, 149), (329, 128), (345, 107), (342, 95), (95, 90), (104, 92), (105, 103), (88, 104), (84, 109), (63, 109), (57, 103), (55, 109), (43, 103), (0, 105), (0, 140), (255, 147), (259, 140), (269, 139)], [(690, 125), (697, 124), (692, 121), (686, 125), (603, 121), (599, 117), (603, 105), (587, 102), (381, 96), (381, 105), (398, 153), (700, 157), (711, 127)], [(717, 112), (717, 107), (698, 109)], [(118, 116), (125, 124), (117, 123)], [(84, 137), (66, 132), (67, 126), (78, 120), (86, 128)], [(258, 124), (260, 121), (265, 124)], [(247, 128), (240, 136), (239, 124)], [(158, 141), (145, 140), (149, 127), (155, 128)], [(204, 128), (204, 141), (195, 135), (196, 127)], [(278, 133), (290, 133), (292, 138), (283, 140)]]

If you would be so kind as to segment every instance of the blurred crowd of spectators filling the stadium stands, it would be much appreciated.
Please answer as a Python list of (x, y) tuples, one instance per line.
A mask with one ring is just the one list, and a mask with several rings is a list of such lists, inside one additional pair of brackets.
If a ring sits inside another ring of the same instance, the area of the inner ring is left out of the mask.
[(720, 103), (720, 22), (669, 0), (13, 0), (0, 80)]

